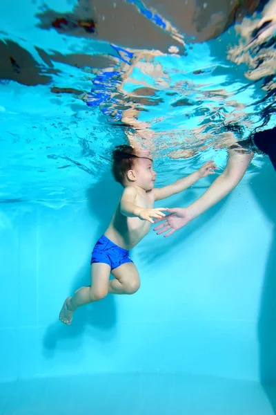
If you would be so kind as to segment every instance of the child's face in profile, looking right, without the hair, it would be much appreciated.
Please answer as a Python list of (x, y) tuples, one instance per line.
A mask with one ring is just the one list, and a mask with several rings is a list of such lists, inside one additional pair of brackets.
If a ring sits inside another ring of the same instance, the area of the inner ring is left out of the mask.
[(152, 160), (148, 158), (135, 158), (135, 165), (132, 171), (135, 175), (135, 185), (144, 190), (153, 189), (156, 173), (153, 169)]

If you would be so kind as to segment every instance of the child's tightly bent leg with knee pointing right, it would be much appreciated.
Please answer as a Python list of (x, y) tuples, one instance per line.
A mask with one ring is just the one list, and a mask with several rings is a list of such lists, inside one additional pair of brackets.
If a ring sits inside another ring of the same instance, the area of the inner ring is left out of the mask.
[(108, 292), (112, 294), (134, 294), (139, 290), (140, 278), (133, 262), (127, 262), (112, 270), (115, 279), (109, 282)]

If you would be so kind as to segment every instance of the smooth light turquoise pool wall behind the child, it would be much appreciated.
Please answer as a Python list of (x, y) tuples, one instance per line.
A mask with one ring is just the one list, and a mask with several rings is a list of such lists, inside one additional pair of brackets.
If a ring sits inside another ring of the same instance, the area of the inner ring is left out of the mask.
[(87, 200), (1, 203), (0, 380), (159, 371), (275, 380), (273, 169), (172, 237), (151, 231), (132, 252), (138, 293), (108, 295), (64, 326), (63, 300), (90, 284), (90, 252), (120, 190), (107, 174)]

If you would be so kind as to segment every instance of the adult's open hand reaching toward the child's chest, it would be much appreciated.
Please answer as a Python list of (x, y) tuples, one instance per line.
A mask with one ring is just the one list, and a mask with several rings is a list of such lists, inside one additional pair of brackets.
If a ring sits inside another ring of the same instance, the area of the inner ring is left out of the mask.
[(177, 229), (182, 228), (193, 219), (188, 208), (172, 208), (168, 209), (168, 212), (169, 214), (166, 216), (166, 218), (155, 220), (155, 222), (164, 221), (164, 223), (161, 223), (153, 229), (158, 231), (157, 235), (167, 232), (164, 235), (165, 238), (170, 237), (173, 232), (175, 232)]

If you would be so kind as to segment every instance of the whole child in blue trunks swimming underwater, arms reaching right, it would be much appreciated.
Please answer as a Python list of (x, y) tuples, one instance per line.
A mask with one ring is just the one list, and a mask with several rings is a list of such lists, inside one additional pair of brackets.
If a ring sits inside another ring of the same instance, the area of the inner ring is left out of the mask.
[[(153, 208), (153, 203), (190, 187), (201, 177), (213, 174), (216, 166), (208, 161), (199, 170), (171, 185), (154, 189), (156, 173), (147, 151), (135, 151), (128, 145), (117, 147), (112, 154), (112, 172), (124, 187), (123, 194), (108, 229), (97, 241), (91, 258), (91, 285), (79, 288), (68, 297), (59, 318), (70, 324), (79, 306), (112, 294), (133, 294), (140, 286), (139, 273), (129, 256), (133, 248), (150, 230), (153, 219), (165, 216), (166, 208)], [(115, 279), (109, 279), (110, 273)]]

